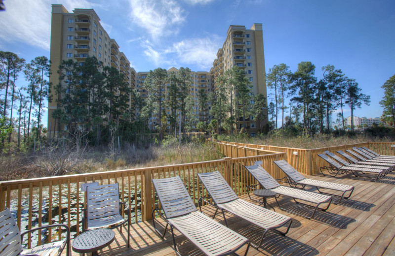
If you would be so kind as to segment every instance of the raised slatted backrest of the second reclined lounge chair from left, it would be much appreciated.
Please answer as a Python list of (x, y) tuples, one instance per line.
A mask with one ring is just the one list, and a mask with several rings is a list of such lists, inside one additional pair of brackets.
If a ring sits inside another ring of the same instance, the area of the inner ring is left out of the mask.
[(197, 173), (197, 176), (213, 198), (215, 204), (227, 203), (238, 199), (237, 194), (218, 171)]

